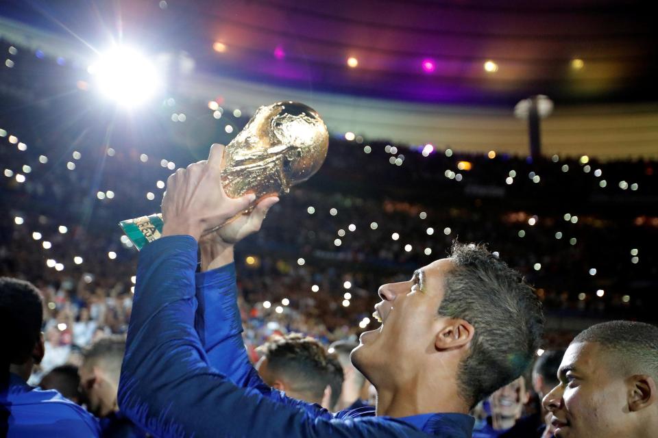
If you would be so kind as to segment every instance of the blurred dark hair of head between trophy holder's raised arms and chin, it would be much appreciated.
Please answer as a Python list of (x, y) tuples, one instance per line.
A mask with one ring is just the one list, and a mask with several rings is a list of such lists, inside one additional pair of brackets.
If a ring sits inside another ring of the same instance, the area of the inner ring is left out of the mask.
[(327, 350), (313, 337), (291, 333), (260, 346), (267, 357), (267, 370), (282, 376), (291, 390), (302, 392), (319, 400), (324, 389), (331, 387), (331, 406), (334, 406), (343, 386), (343, 368), (336, 355)]

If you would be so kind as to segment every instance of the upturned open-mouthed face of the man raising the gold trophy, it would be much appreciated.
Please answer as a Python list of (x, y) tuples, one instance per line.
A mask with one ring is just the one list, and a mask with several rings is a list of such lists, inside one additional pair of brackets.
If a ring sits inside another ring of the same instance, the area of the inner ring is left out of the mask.
[(376, 385), (404, 379), (422, 366), (423, 356), (435, 351), (437, 311), (445, 294), (450, 259), (420, 268), (409, 281), (382, 285), (382, 301), (375, 308), (382, 326), (361, 335), (352, 351), (352, 363)]

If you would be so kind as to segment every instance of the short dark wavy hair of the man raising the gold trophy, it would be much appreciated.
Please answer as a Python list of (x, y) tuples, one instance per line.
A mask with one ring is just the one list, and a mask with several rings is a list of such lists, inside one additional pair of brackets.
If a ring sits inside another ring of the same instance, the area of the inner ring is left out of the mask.
[(475, 406), (523, 374), (544, 329), (541, 302), (521, 274), (483, 245), (452, 245), (439, 315), (461, 318), (475, 333), (457, 376), (463, 398)]

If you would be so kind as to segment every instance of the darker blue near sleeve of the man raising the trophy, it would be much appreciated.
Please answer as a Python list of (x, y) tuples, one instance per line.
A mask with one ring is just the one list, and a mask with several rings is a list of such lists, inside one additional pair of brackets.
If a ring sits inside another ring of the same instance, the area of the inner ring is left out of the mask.
[(208, 365), (194, 328), (197, 243), (162, 237), (140, 254), (119, 406), (158, 437), (425, 436), (389, 417), (328, 420), (236, 387)]

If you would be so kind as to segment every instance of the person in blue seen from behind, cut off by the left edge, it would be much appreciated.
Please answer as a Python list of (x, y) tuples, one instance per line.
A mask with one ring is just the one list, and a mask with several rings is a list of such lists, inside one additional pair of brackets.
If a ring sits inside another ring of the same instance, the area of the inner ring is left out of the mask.
[(0, 435), (7, 437), (98, 437), (97, 420), (58, 391), (27, 385), (43, 358), (41, 296), (31, 283), (0, 277), (0, 331), (7, 337), (1, 355)]

